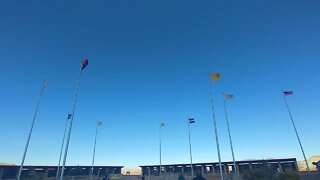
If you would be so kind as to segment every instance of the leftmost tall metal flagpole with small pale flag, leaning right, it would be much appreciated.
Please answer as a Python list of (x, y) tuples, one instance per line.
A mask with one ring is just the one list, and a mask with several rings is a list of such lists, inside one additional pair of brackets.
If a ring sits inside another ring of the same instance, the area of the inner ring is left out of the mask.
[(22, 169), (23, 169), (24, 160), (25, 160), (25, 158), (26, 158), (26, 154), (27, 154), (27, 151), (28, 151), (28, 146), (29, 146), (29, 142), (30, 142), (30, 138), (31, 138), (33, 126), (34, 126), (34, 123), (35, 123), (35, 121), (36, 121), (36, 117), (37, 117), (37, 113), (38, 113), (40, 101), (41, 101), (41, 98), (42, 98), (43, 90), (44, 90), (44, 88), (47, 87), (47, 86), (48, 86), (48, 81), (47, 81), (47, 80), (44, 80), (44, 81), (43, 81), (42, 88), (41, 88), (41, 91), (40, 91), (39, 99), (38, 99), (38, 102), (37, 102), (36, 112), (34, 113), (34, 116), (33, 116), (33, 121), (32, 121), (32, 124), (31, 124), (30, 131), (29, 131), (29, 135), (28, 135), (26, 147), (25, 147), (25, 149), (24, 149), (24, 153), (23, 153), (21, 165), (20, 165), (20, 168), (19, 168), (19, 173), (18, 173), (18, 177), (17, 177), (18, 180), (20, 180), (20, 177), (21, 177), (21, 172), (22, 172)]

